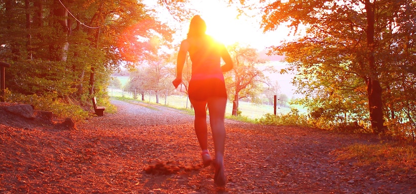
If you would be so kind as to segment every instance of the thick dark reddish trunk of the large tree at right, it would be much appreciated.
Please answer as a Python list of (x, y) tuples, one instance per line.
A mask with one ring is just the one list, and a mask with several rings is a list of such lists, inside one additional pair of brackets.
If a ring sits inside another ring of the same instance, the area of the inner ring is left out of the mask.
[(370, 111), (370, 121), (373, 132), (381, 134), (385, 132), (383, 119), (382, 87), (378, 81), (377, 68), (374, 58), (374, 4), (370, 0), (365, 0), (367, 11), (367, 47), (369, 76), (367, 78), (368, 106)]

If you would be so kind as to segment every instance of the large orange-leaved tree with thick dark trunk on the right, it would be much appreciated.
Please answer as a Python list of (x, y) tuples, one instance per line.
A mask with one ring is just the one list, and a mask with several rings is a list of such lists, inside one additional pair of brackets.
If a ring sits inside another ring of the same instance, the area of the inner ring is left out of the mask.
[[(272, 53), (285, 55), (292, 69), (299, 72), (295, 82), (306, 87), (300, 90), (314, 97), (316, 102), (341, 106), (344, 104), (341, 99), (347, 99), (360, 103), (358, 106), (367, 106), (373, 132), (385, 133), (384, 107), (390, 102), (386, 101), (384, 93), (392, 94), (388, 89), (392, 81), (390, 77), (414, 64), (416, 3), (407, 0), (263, 3), (257, 4), (257, 7), (264, 11), (264, 31), (275, 30), (282, 24), (291, 27), (293, 33), (305, 27), (304, 35), (298, 40), (288, 41), (271, 50)], [(407, 77), (414, 83), (414, 73), (408, 73)], [(305, 80), (316, 84), (302, 84)], [(401, 85), (403, 83), (394, 83), (399, 90), (411, 91)], [(319, 100), (317, 92), (324, 91), (328, 96), (338, 97)], [(361, 101), (363, 95), (367, 102)], [(305, 98), (305, 101), (308, 99)], [(414, 107), (414, 103), (410, 106)], [(339, 111), (351, 112), (353, 108), (341, 108)], [(414, 116), (410, 119), (414, 120)]]

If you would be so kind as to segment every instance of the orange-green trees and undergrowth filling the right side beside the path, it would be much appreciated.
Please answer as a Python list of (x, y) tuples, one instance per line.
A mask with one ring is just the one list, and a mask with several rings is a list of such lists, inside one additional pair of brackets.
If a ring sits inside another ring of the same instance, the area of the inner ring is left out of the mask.
[(304, 95), (298, 102), (314, 126), (383, 133), (385, 121), (383, 135), (414, 141), (416, 36), (408, 22), (415, 18), (414, 2), (263, 3), (253, 6), (263, 10), (265, 31), (282, 23), (293, 33), (305, 28), (271, 53), (286, 56), (288, 70), (297, 73), (293, 83)]

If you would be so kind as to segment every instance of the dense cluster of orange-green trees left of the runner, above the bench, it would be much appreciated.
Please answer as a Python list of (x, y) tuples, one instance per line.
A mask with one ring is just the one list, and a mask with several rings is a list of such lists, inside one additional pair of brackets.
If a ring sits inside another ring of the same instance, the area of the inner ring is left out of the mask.
[[(121, 64), (130, 67), (153, 55), (158, 37), (171, 40), (171, 30), (153, 13), (133, 0), (2, 1), (0, 53), (13, 64), (7, 85), (12, 92), (41, 94), (50, 91), (40, 89), (46, 82), (28, 89), (22, 85), (30, 82), (27, 77), (56, 82), (64, 74), (62, 88), (54, 89), (59, 98), (104, 95), (110, 74)], [(28, 69), (25, 76), (20, 69)]]

